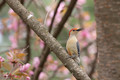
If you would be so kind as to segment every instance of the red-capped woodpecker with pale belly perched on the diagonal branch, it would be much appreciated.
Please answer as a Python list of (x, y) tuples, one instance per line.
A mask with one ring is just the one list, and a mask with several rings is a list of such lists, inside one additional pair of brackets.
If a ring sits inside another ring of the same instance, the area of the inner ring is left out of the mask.
[(76, 35), (82, 28), (73, 28), (69, 31), (69, 38), (66, 43), (67, 53), (78, 65), (80, 65), (80, 47)]

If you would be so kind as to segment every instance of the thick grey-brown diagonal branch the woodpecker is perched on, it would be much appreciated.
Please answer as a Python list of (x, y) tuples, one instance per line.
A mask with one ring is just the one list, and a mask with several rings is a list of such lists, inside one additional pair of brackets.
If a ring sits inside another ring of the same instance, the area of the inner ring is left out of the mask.
[(61, 62), (68, 68), (77, 80), (90, 80), (88, 75), (70, 58), (56, 39), (42, 27), (39, 21), (21, 5), (18, 0), (5, 0), (6, 3), (23, 19), (23, 21), (46, 43), (57, 55)]

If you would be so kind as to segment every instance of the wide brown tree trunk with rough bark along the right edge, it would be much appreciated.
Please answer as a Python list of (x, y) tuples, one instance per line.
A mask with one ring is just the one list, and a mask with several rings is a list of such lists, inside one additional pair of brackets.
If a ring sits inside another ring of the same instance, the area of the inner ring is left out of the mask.
[(99, 80), (120, 80), (120, 0), (94, 0)]

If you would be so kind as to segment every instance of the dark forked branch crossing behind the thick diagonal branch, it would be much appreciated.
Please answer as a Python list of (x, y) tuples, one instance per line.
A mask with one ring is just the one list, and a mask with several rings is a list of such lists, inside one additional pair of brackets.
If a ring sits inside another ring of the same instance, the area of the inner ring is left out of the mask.
[[(56, 7), (56, 11), (54, 13), (53, 19), (52, 19), (51, 24), (50, 24), (51, 28), (52, 28), (52, 25), (53, 25), (53, 22), (54, 22), (54, 19), (55, 19), (55, 15), (57, 13), (57, 9), (58, 9), (61, 2), (62, 2), (62, 0), (58, 2), (58, 5)], [(77, 0), (72, 0), (70, 2), (70, 5), (68, 6), (68, 10), (66, 11), (65, 15), (63, 16), (61, 22), (58, 24), (57, 30), (55, 30), (55, 32), (53, 33), (53, 37), (57, 38), (57, 36), (62, 31), (62, 29), (64, 27), (64, 24), (68, 20), (69, 16), (71, 15), (72, 10), (73, 10), (76, 2), (77, 2)], [(49, 31), (51, 31), (50, 27), (49, 27)], [(50, 53), (50, 49), (47, 46), (45, 46), (44, 49), (43, 49), (43, 52), (40, 55), (41, 64), (39, 65), (39, 68), (35, 71), (34, 80), (36, 80), (38, 78), (39, 74), (42, 72), (44, 64), (47, 60), (47, 57), (48, 57), (49, 53)]]

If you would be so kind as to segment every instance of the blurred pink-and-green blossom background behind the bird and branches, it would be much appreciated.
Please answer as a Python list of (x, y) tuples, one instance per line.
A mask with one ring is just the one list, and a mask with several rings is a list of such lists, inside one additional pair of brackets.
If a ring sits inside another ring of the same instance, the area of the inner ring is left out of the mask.
[[(18, 17), (4, 1), (0, 3), (0, 56), (5, 57), (5, 53), (14, 49), (28, 49), (27, 54), (29, 63), (34, 69), (38, 68), (40, 55), (44, 50), (44, 42)], [(24, 6), (33, 14), (38, 21), (49, 29), (55, 8), (59, 0), (24, 0)], [(51, 34), (56, 30), (61, 18), (67, 11), (70, 0), (61, 2)], [(97, 80), (96, 61), (96, 22), (94, 17), (93, 0), (78, 0), (72, 15), (65, 23), (60, 35), (57, 37), (59, 43), (65, 48), (66, 41), (69, 37), (69, 30), (75, 27), (84, 28), (78, 33), (81, 49), (81, 67), (93, 79)], [(70, 72), (62, 65), (60, 60), (52, 52), (47, 57), (43, 71), (39, 74), (39, 80), (75, 80)]]

